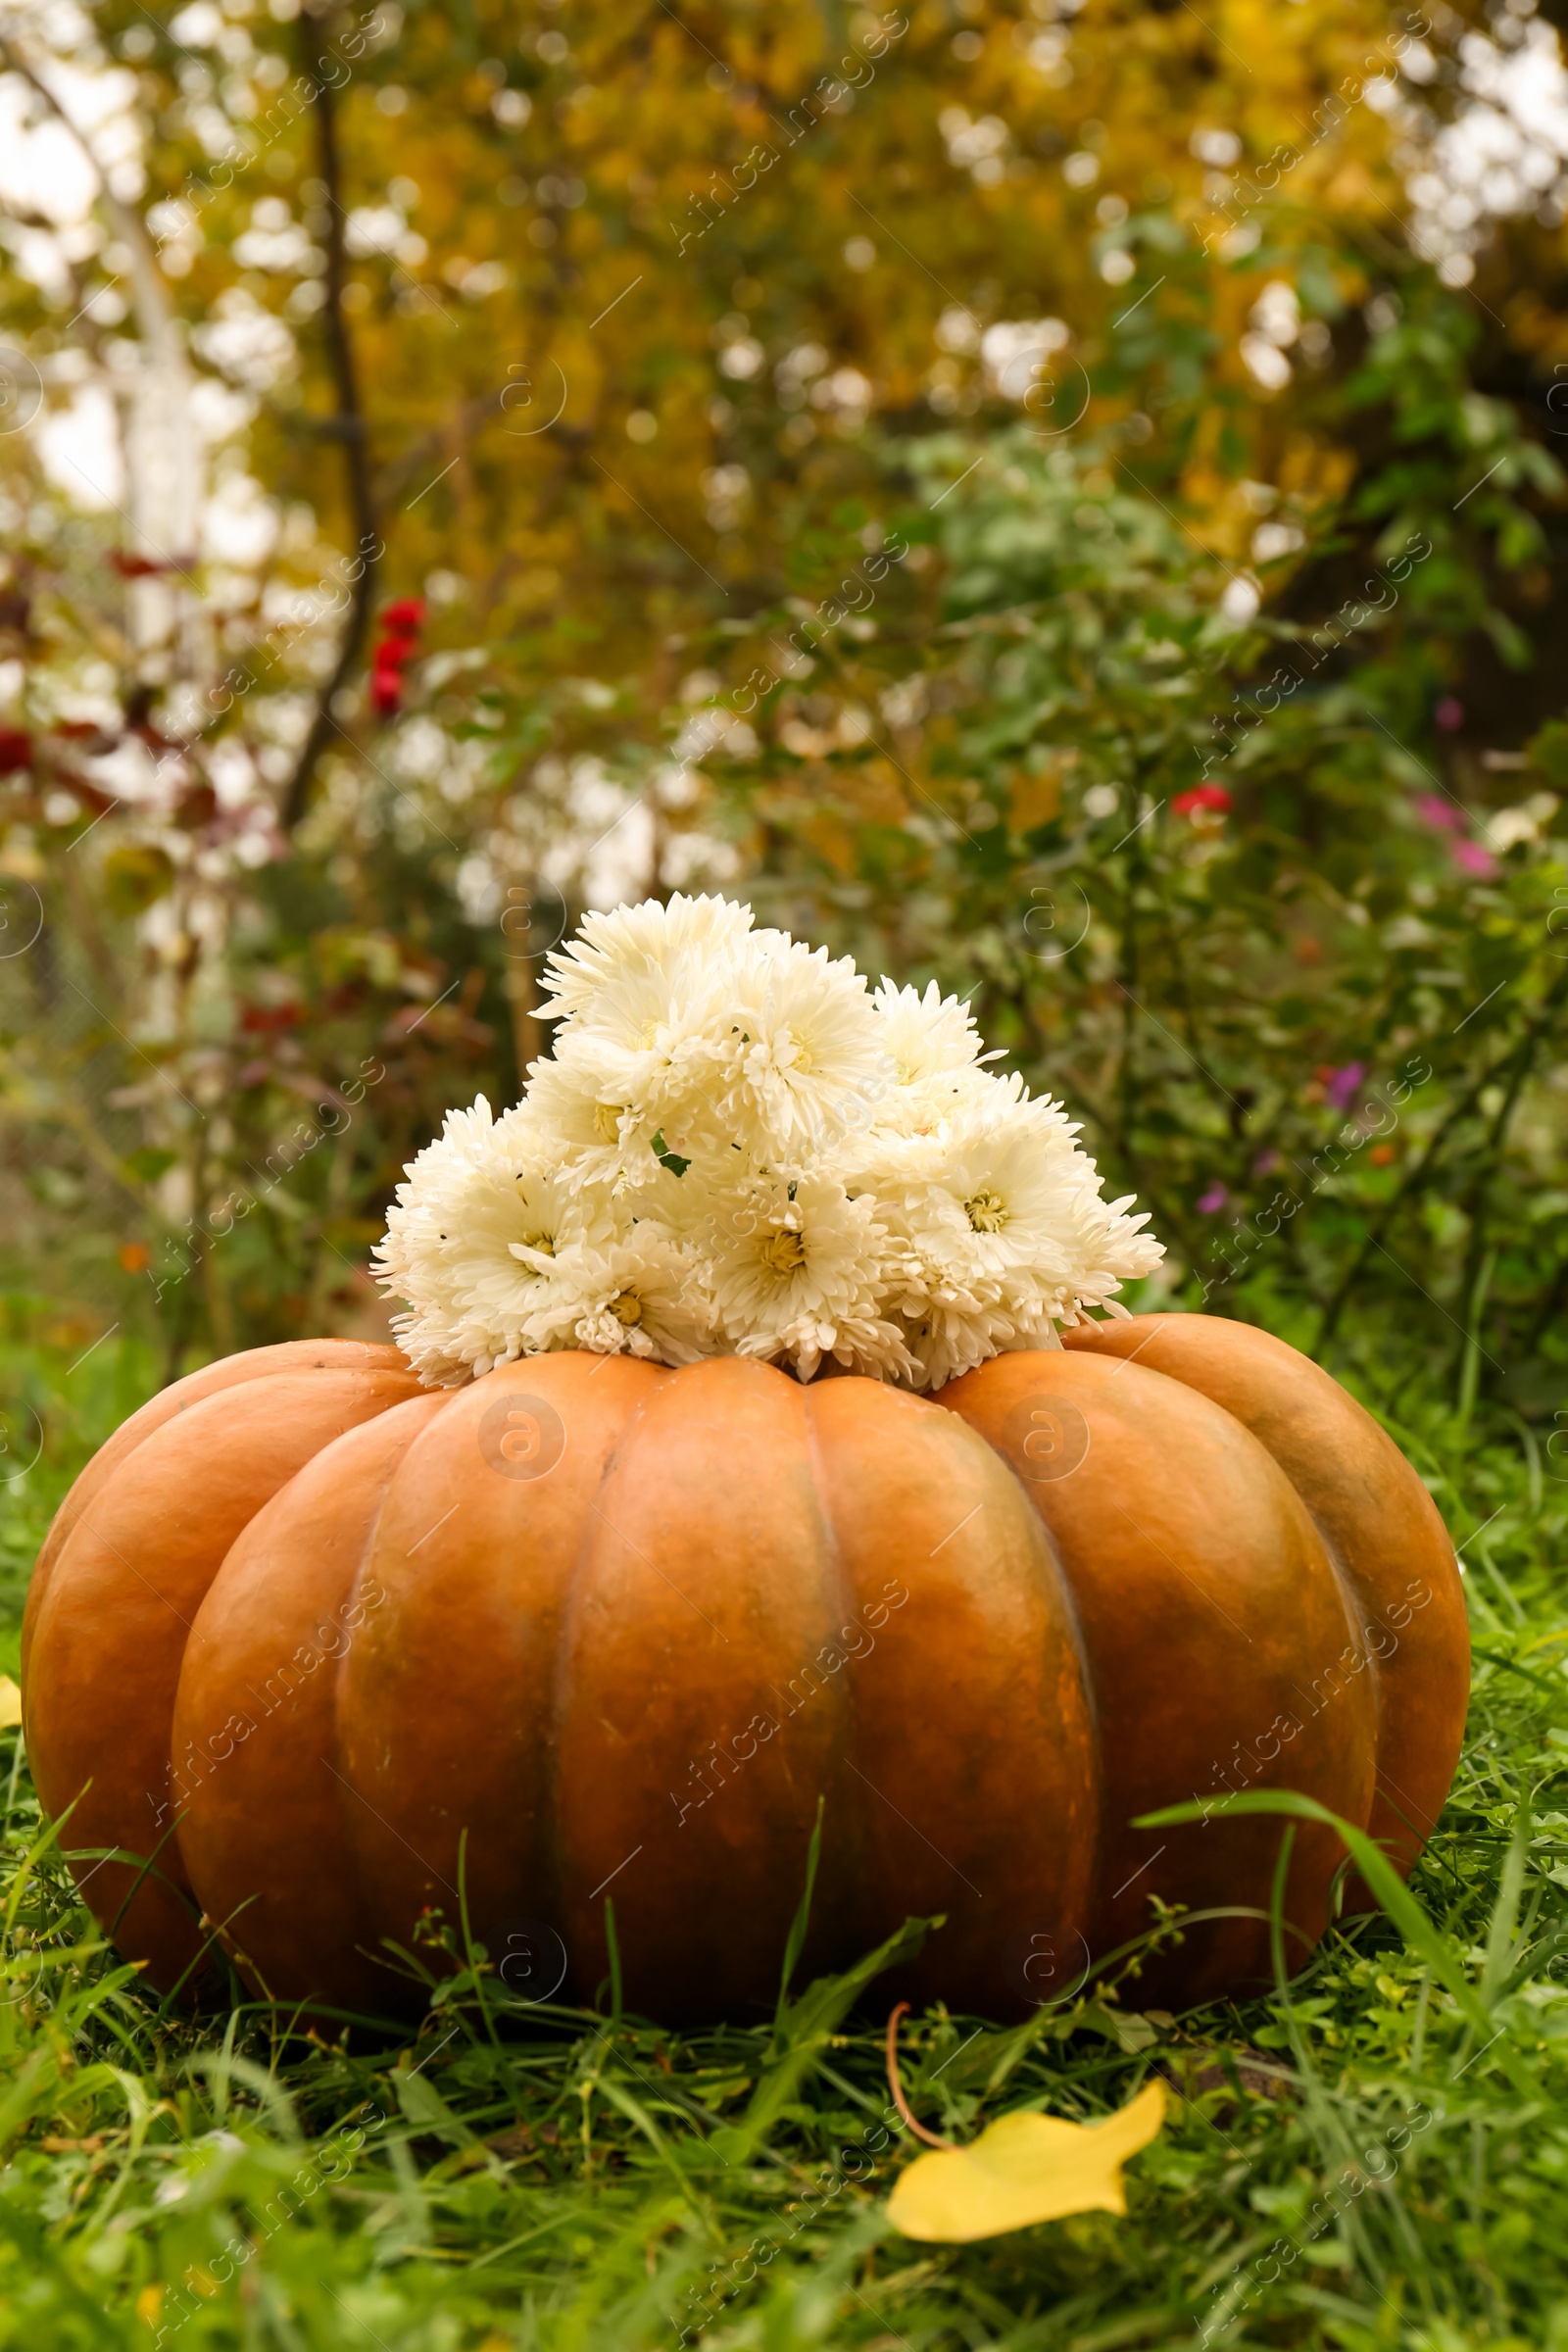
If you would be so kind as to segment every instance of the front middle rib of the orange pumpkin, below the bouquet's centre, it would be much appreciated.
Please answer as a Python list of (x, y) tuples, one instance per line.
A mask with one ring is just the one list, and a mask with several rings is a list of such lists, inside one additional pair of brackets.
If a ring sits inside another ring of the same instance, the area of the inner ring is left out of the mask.
[[(806, 1392), (743, 1357), (670, 1376), (604, 1468), (571, 1595), (562, 1933), (592, 1987), (611, 1893), (628, 2002), (661, 2018), (766, 2016), (818, 1790), (853, 1811), (804, 1418)], [(703, 1950), (715, 1893), (726, 1933)], [(830, 1839), (802, 1971), (853, 1940), (853, 1900)]]

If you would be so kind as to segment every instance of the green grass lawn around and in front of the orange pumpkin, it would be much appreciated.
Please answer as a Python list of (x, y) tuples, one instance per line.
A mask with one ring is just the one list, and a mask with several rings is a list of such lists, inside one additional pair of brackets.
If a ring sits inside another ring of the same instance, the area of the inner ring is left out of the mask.
[[(45, 1430), (0, 1489), (7, 1642), (54, 1501), (153, 1376), (118, 1341), (68, 1374), (73, 1352), (2, 1357)], [(1128, 1976), (1018, 2030), (905, 2025), (914, 2112), (959, 2140), (1011, 2107), (1091, 2119), (1168, 2067), (1185, 2096), (1126, 2220), (966, 2249), (889, 2227), (910, 2140), (870, 1962), (773, 2030), (679, 2037), (611, 1987), (602, 2013), (522, 2009), (487, 1969), (433, 1971), (411, 2042), (160, 2009), (2, 1733), (0, 2347), (1568, 2352), (1568, 1482), (1523, 1430), (1410, 1395), (1396, 1435), (1448, 1524), (1488, 1524), (1465, 1541), (1465, 1762), (1408, 1940), (1347, 1922), (1276, 1997), (1180, 2020)]]

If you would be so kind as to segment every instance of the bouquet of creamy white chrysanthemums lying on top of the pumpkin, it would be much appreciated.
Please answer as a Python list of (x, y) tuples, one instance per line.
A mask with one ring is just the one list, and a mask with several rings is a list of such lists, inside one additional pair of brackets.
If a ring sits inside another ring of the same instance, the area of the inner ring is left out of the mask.
[(555, 1058), (449, 1112), (378, 1244), (423, 1381), (590, 1348), (940, 1388), (1159, 1263), (957, 997), (752, 922), (649, 898), (550, 957)]

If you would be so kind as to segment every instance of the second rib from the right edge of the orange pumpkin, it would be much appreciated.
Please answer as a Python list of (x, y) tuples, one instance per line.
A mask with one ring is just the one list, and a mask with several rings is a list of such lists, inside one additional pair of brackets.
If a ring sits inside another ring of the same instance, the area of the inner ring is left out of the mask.
[[(1356, 1825), (1373, 1797), (1361, 1686), (1338, 1738), (1321, 1724), (1281, 1731), (1295, 1646), (1307, 1637), (1338, 1649), (1347, 1632), (1340, 1585), (1293, 1484), (1232, 1414), (1147, 1359), (1001, 1355), (950, 1383), (943, 1402), (1027, 1486), (1079, 1602), (1103, 1755), (1095, 1957), (1147, 1929), (1154, 1893), (1194, 1910), (1267, 1910), (1281, 1832), (1227, 1811), (1227, 1773), (1305, 1788)], [(1037, 1439), (1048, 1442), (1034, 1463)], [(1128, 1609), (1140, 1611), (1133, 1623)], [(1234, 1755), (1222, 1766), (1227, 1740)], [(1213, 1818), (1154, 1835), (1131, 1828), (1185, 1799), (1211, 1799)], [(1333, 1832), (1298, 1835), (1286, 1917), (1309, 1940), (1326, 1924), (1338, 1858)], [(1267, 1973), (1267, 1926), (1213, 1922), (1145, 1962), (1143, 1990), (1185, 2004)]]

